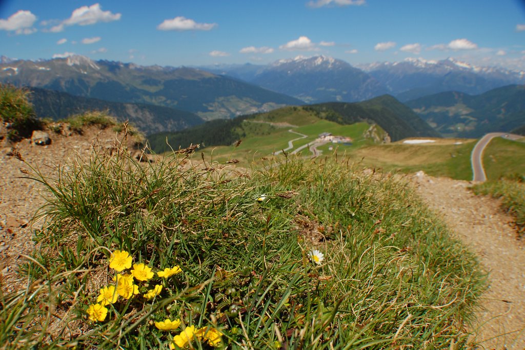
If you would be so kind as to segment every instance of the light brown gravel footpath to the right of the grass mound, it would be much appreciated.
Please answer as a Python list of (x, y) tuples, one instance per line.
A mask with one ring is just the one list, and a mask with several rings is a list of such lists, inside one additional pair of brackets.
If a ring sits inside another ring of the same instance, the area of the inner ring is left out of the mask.
[(470, 331), (486, 349), (525, 349), (525, 245), (517, 240), (512, 218), (498, 210), (497, 200), (475, 196), (469, 182), (421, 172), (414, 180), (429, 207), (442, 214), (489, 272), (490, 288)]

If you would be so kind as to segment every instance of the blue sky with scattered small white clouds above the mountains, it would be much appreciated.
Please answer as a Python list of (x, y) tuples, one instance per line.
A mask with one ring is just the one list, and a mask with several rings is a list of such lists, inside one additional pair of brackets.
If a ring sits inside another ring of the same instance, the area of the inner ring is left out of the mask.
[(139, 65), (454, 57), (525, 70), (523, 0), (0, 0), (0, 55)]

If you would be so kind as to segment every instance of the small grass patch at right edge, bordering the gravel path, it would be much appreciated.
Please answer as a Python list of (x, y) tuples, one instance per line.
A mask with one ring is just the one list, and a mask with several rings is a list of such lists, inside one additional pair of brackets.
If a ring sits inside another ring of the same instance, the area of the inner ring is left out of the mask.
[(501, 207), (516, 218), (520, 237), (525, 236), (525, 182), (523, 175), (513, 175), (497, 181), (487, 181), (472, 187), (476, 195), (501, 199)]

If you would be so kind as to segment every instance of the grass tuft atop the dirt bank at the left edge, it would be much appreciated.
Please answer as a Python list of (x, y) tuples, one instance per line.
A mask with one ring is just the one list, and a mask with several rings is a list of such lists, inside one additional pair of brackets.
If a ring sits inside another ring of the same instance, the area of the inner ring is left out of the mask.
[(0, 116), (8, 125), (7, 138), (19, 141), (42, 127), (28, 100), (29, 91), (0, 83)]

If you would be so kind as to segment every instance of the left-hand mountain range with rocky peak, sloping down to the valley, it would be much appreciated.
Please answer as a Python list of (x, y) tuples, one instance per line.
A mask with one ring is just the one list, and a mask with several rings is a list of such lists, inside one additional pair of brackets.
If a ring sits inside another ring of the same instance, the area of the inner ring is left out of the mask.
[(2, 60), (0, 82), (39, 87), (113, 102), (150, 103), (232, 118), (302, 101), (238, 79), (195, 68), (93, 61), (83, 56), (51, 60)]

